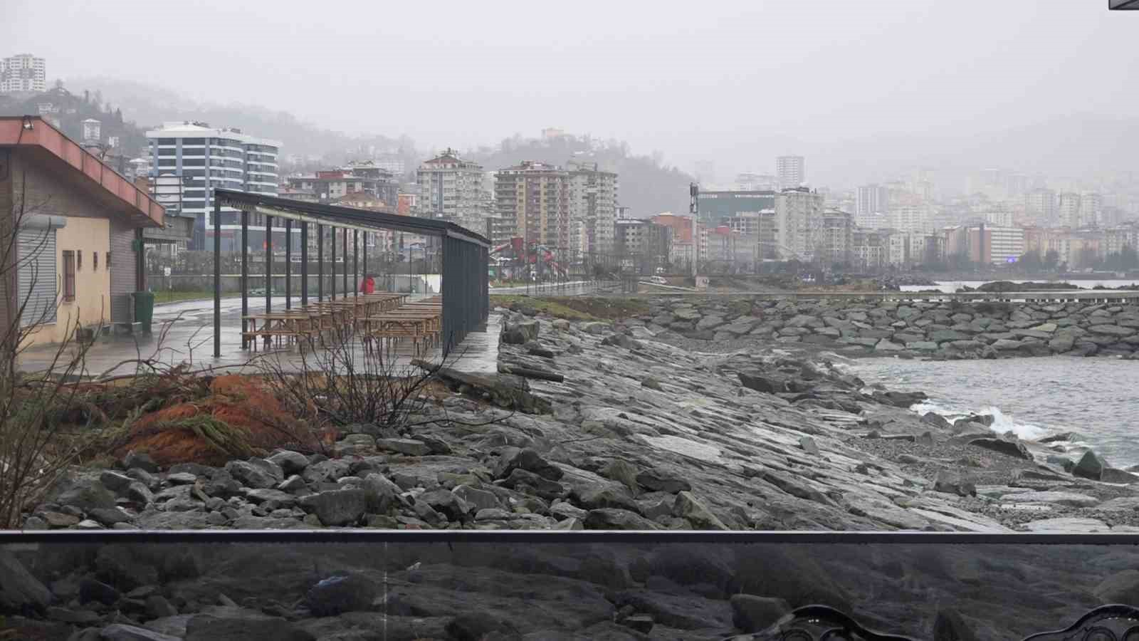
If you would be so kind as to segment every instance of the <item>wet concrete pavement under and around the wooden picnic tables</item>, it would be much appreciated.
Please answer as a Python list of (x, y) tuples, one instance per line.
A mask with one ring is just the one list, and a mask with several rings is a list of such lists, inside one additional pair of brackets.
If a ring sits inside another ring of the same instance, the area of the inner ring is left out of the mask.
[[(293, 299), (293, 307), (300, 307), (298, 298)], [(249, 313), (264, 311), (264, 298), (249, 300)], [(272, 309), (285, 309), (285, 297), (272, 299)], [(96, 339), (88, 349), (83, 375), (110, 376), (130, 374), (139, 366), (140, 359), (147, 359), (164, 366), (187, 364), (197, 371), (218, 371), (255, 373), (267, 368), (300, 371), (305, 365), (309, 368), (323, 362), (321, 354), (308, 351), (302, 354), (296, 346), (271, 351), (252, 351), (241, 349), (241, 299), (240, 297), (221, 300), (221, 357), (213, 356), (213, 301), (181, 301), (156, 306), (154, 309), (153, 331), (149, 334), (104, 335)], [(446, 357), (446, 365), (464, 372), (492, 373), (498, 370), (499, 317), (491, 314), (487, 322), (454, 347)], [(351, 341), (353, 357), (364, 356), (363, 343)], [(25, 350), (19, 358), (19, 368), (27, 372), (43, 371), (51, 365), (57, 346), (39, 346)], [(318, 350), (322, 351), (322, 350)], [(428, 362), (440, 362), (442, 351), (439, 347), (428, 348), (423, 354), (415, 354), (408, 341), (400, 341), (390, 352), (385, 352), (387, 367), (407, 370), (412, 367), (415, 358)]]

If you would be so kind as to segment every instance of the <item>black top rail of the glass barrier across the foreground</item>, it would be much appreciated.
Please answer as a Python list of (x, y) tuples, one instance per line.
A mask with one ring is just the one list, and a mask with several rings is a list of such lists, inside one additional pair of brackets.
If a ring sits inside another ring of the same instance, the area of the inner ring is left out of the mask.
[(618, 530), (0, 530), (15, 544), (210, 543), (536, 543), (811, 545), (1139, 545), (1139, 534), (934, 532), (618, 532)]

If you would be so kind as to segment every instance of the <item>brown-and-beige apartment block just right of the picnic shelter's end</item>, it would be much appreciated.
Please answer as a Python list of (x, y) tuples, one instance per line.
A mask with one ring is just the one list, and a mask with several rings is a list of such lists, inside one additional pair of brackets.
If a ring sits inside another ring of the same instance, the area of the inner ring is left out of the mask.
[(494, 173), (498, 218), (513, 222), (515, 236), (549, 248), (570, 245), (570, 172), (523, 161)]

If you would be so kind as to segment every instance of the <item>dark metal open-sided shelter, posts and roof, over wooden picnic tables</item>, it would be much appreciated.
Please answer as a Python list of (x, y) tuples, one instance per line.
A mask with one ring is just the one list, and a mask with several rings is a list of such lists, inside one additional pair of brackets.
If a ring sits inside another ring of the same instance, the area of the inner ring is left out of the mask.
[[(244, 318), (249, 314), (249, 274), (248, 274), (248, 230), (249, 214), (265, 217), (265, 310), (272, 307), (272, 222), (273, 218), (285, 220), (285, 307), (292, 306), (293, 267), (292, 267), (292, 227), (301, 225), (301, 305), (309, 303), (309, 228), (317, 227), (317, 300), (325, 300), (325, 229), (331, 234), (331, 291), (330, 298), (336, 298), (336, 241), (341, 230), (342, 260), (344, 261), (343, 293), (350, 295), (349, 285), (349, 232), (352, 232), (352, 270), (353, 284), (351, 291), (357, 293), (360, 283), (360, 234), (390, 230), (435, 236), (442, 244), (442, 297), (443, 297), (443, 334), (442, 348), (445, 356), (451, 348), (461, 341), (468, 332), (486, 320), (490, 311), (487, 299), (487, 252), (490, 242), (483, 236), (465, 229), (453, 222), (396, 216), (377, 211), (360, 210), (346, 206), (326, 205), (303, 201), (293, 201), (265, 194), (235, 192), (231, 189), (214, 189), (213, 210), (213, 250), (214, 250), (214, 357), (221, 357), (221, 208), (222, 205), (240, 210), (241, 217), (241, 331), (245, 332)], [(368, 271), (368, 254), (363, 254), (363, 271)], [(241, 341), (245, 347), (245, 339)]]

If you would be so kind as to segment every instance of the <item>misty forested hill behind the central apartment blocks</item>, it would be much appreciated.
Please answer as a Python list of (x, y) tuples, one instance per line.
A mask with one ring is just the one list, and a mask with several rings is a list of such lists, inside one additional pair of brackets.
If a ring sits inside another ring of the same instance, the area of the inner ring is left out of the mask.
[(617, 200), (629, 208), (632, 218), (647, 218), (663, 211), (688, 211), (688, 184), (693, 177), (665, 165), (656, 156), (633, 155), (629, 145), (617, 140), (596, 140), (588, 136), (556, 138), (514, 137), (498, 147), (481, 147), (467, 152), (487, 171), (513, 167), (522, 161), (540, 161), (565, 165), (568, 161), (596, 162), (598, 169), (617, 173)]

